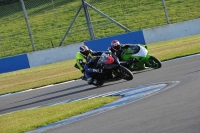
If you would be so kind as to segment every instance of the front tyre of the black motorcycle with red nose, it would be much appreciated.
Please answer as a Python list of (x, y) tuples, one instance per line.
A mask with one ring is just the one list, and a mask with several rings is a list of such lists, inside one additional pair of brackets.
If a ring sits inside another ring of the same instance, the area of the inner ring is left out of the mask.
[(125, 79), (125, 80), (132, 80), (133, 79), (132, 72), (129, 69), (127, 69), (126, 67), (121, 66), (118, 69), (118, 74), (119, 74), (118, 76), (121, 79)]

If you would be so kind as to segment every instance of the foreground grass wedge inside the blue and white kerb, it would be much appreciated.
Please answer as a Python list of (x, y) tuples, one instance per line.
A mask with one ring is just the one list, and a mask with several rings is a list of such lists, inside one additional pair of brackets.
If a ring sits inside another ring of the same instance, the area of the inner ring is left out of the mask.
[(0, 115), (0, 130), (1, 133), (27, 132), (99, 108), (117, 99), (99, 97)]

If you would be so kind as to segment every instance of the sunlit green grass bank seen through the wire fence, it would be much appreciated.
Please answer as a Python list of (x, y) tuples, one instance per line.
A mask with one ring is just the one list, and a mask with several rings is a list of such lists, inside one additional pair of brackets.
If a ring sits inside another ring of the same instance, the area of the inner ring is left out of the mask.
[[(0, 57), (58, 47), (82, 4), (81, 0), (24, 0), (26, 17), (20, 1), (0, 1)], [(200, 18), (200, 0), (85, 1), (131, 31)], [(88, 12), (95, 39), (126, 32), (92, 8)], [(64, 45), (87, 40), (90, 34), (81, 10)]]

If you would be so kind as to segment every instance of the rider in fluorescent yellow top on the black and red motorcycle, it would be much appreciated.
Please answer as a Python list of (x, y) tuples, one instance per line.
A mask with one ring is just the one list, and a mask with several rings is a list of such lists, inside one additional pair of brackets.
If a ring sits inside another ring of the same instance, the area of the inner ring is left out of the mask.
[(97, 63), (99, 58), (93, 58), (94, 56), (101, 56), (103, 52), (96, 52), (89, 49), (87, 46), (81, 46), (80, 51), (76, 53), (76, 65), (83, 73), (83, 78), (88, 81), (88, 84), (92, 84), (93, 80), (90, 76), (91, 73), (102, 73), (101, 69), (93, 69), (95, 63)]

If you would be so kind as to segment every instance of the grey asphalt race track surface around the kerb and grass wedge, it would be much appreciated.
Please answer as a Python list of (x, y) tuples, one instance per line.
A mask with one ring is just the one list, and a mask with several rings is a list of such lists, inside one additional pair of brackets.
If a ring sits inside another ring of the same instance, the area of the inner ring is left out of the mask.
[(0, 97), (0, 114), (168, 81), (180, 83), (145, 99), (46, 132), (199, 133), (200, 55), (164, 62), (160, 69), (135, 73), (128, 82), (120, 80), (96, 88), (76, 81)]

